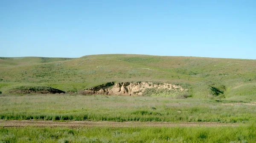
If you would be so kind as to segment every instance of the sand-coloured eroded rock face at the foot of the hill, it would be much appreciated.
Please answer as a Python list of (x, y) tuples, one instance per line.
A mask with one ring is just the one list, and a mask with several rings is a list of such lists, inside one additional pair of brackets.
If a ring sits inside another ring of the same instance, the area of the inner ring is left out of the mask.
[(181, 86), (161, 83), (154, 84), (153, 82), (124, 82), (114, 84), (113, 82), (108, 84), (102, 84), (97, 87), (91, 87), (84, 90), (84, 95), (132, 95), (140, 96), (146, 89), (156, 88), (156, 89), (166, 89), (174, 91), (185, 91), (187, 89)]

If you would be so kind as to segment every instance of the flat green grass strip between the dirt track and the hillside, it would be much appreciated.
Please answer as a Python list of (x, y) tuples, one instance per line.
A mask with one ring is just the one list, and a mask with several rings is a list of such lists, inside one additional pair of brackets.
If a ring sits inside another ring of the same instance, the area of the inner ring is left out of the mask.
[[(250, 100), (65, 94), (2, 95), (0, 100), (4, 120), (256, 122), (256, 105), (248, 105)], [(240, 104), (229, 105), (236, 102)]]

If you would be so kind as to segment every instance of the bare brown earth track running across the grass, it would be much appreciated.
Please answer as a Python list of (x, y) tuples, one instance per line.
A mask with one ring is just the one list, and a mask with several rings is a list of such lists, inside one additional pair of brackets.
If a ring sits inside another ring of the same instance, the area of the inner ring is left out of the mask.
[(167, 122), (92, 122), (92, 121), (69, 121), (69, 122), (56, 122), (56, 121), (4, 121), (0, 120), (0, 127), (175, 127), (175, 126), (238, 126), (239, 123), (209, 123), (209, 122), (186, 122), (186, 123), (167, 123)]

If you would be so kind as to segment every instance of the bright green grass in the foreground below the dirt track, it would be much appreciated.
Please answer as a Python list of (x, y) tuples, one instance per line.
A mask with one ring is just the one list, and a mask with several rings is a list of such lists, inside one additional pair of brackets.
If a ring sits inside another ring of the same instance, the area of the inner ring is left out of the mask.
[(255, 143), (256, 126), (238, 127), (0, 127), (0, 143)]

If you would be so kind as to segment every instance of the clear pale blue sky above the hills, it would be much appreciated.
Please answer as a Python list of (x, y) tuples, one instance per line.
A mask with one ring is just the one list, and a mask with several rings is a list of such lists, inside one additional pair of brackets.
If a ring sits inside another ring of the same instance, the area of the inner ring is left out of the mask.
[(0, 0), (0, 56), (256, 59), (256, 0)]

